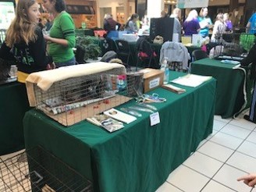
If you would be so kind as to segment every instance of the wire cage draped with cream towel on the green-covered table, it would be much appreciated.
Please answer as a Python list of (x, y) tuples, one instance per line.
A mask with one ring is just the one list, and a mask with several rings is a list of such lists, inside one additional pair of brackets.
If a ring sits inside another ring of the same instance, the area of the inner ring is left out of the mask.
[[(69, 73), (73, 69), (74, 75), (80, 75), (72, 77)], [(51, 82), (48, 86), (49, 78), (58, 78), (62, 73), (68, 73), (68, 76)], [(48, 78), (44, 78), (45, 76)], [(29, 84), (29, 81), (40, 78), (41, 81)], [(32, 73), (27, 78), (28, 98), (30, 106), (36, 106), (62, 125), (70, 126), (130, 101), (136, 79), (127, 78), (129, 76), (126, 75), (123, 65), (107, 62)], [(47, 88), (42, 81), (47, 82)]]

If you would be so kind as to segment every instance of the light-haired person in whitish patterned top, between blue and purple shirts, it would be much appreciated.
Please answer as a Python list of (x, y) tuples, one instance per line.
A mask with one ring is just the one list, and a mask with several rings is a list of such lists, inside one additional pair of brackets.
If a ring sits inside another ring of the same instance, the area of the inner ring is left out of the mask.
[(211, 41), (212, 42), (218, 41), (222, 36), (222, 34), (225, 34), (225, 32), (226, 32), (226, 25), (223, 20), (223, 13), (219, 12), (218, 15), (216, 16), (216, 20), (212, 30)]

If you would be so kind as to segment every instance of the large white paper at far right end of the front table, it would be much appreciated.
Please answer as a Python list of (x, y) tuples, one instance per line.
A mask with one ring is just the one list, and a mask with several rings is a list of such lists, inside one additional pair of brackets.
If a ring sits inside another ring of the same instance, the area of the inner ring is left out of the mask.
[(180, 84), (187, 87), (197, 87), (203, 84), (205, 81), (210, 80), (212, 76), (200, 76), (194, 74), (187, 74), (186, 76), (180, 76), (171, 82), (174, 84)]

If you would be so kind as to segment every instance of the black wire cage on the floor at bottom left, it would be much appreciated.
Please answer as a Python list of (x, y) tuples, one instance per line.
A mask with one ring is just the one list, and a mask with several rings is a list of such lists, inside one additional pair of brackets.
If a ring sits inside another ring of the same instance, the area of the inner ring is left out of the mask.
[(41, 147), (2, 160), (2, 192), (90, 192), (91, 181)]

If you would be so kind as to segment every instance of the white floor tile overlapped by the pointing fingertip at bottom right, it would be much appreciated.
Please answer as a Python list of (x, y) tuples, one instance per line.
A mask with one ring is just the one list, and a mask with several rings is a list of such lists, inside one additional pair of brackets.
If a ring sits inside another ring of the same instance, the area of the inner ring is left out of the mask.
[(222, 183), (223, 185), (230, 187), (236, 191), (249, 192), (251, 187), (248, 187), (243, 182), (238, 182), (236, 179), (240, 176), (246, 175), (247, 172), (242, 172), (239, 169), (235, 169), (229, 165), (223, 165), (222, 169), (217, 172), (213, 177), (213, 180)]

